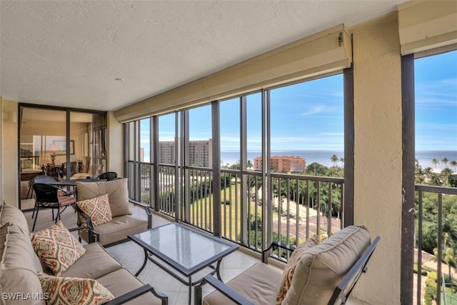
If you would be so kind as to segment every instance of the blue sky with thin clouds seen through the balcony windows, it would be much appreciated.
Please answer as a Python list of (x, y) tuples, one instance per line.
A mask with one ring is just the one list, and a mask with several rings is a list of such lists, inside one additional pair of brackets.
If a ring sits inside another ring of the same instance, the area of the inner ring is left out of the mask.
[[(457, 51), (415, 61), (416, 150), (457, 150)], [(221, 103), (221, 150), (239, 150), (239, 99)], [(247, 96), (248, 151), (261, 150), (261, 94)], [(141, 126), (148, 143), (149, 124)], [(174, 139), (174, 114), (159, 118)], [(271, 90), (271, 150), (343, 150), (342, 74)], [(190, 111), (191, 140), (211, 138), (211, 106)], [(146, 151), (148, 154), (149, 151)]]

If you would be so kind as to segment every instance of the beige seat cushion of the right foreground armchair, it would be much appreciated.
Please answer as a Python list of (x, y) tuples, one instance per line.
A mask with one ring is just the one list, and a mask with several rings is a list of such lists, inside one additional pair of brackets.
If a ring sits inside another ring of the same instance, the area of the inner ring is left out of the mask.
[[(281, 269), (259, 262), (229, 281), (227, 286), (254, 304), (275, 304), (282, 274)], [(214, 291), (206, 296), (203, 303), (206, 305), (231, 304), (229, 299), (219, 291)]]

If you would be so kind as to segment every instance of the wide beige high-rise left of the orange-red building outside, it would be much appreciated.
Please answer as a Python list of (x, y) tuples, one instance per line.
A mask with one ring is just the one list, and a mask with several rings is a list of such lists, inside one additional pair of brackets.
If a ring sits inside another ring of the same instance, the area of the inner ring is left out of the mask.
[[(213, 141), (189, 141), (189, 164), (190, 166), (211, 167), (213, 164), (212, 154)], [(159, 163), (175, 164), (174, 141), (159, 142)]]

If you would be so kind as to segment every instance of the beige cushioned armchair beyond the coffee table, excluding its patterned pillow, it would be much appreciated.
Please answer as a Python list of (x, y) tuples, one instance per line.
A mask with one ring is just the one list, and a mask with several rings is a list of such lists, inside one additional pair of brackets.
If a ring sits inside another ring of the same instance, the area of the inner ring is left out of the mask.
[[(104, 246), (111, 246), (126, 241), (129, 234), (151, 229), (152, 215), (149, 206), (129, 199), (126, 178), (100, 182), (78, 181), (76, 182), (76, 194), (77, 201), (94, 199), (108, 194), (112, 220), (104, 224), (94, 225), (88, 214), (84, 213), (79, 206), (74, 206), (79, 213), (78, 225), (81, 226), (82, 222), (86, 221), (89, 226), (89, 229), (79, 231), (79, 237), (89, 244), (99, 241)], [(143, 207), (144, 217), (134, 216), (131, 204)]]

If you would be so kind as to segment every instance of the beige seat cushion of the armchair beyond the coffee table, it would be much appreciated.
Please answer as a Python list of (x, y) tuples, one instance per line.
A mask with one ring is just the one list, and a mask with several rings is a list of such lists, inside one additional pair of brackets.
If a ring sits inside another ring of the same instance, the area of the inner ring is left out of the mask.
[[(112, 221), (100, 226), (94, 226), (94, 230), (100, 233), (100, 244), (103, 246), (112, 244), (116, 241), (127, 239), (127, 235), (135, 234), (148, 229), (148, 221), (139, 219), (133, 215), (113, 217)], [(79, 231), (79, 236), (85, 241), (89, 241), (87, 231)]]

